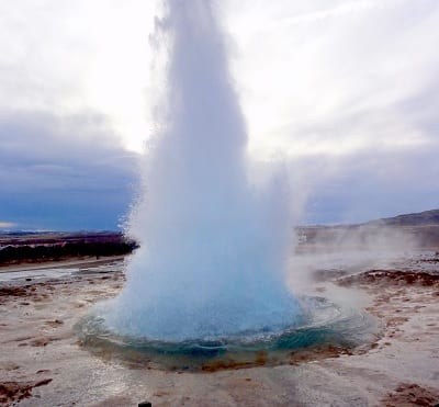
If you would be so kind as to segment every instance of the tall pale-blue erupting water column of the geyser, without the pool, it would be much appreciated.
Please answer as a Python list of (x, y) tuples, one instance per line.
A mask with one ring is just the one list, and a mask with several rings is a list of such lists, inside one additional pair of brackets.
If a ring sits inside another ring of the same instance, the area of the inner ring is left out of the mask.
[(284, 284), (288, 186), (284, 177), (258, 189), (248, 181), (245, 124), (212, 8), (169, 0), (158, 24), (169, 45), (168, 89), (131, 215), (140, 249), (103, 312), (108, 328), (125, 336), (251, 336), (300, 316)]

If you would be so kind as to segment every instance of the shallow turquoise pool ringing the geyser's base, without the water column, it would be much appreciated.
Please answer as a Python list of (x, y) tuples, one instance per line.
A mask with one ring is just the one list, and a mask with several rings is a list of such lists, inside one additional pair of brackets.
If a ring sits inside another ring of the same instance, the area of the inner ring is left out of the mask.
[(224, 338), (181, 342), (132, 338), (112, 332), (105, 320), (89, 315), (76, 326), (80, 343), (91, 352), (135, 368), (215, 371), (291, 364), (337, 355), (376, 340), (378, 323), (370, 315), (340, 307), (323, 297), (302, 297), (304, 317), (281, 331), (240, 332)]

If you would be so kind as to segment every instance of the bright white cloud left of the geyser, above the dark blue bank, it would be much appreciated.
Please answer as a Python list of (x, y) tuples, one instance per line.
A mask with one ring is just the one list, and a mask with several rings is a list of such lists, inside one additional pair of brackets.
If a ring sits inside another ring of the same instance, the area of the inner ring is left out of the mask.
[(143, 0), (0, 1), (0, 111), (92, 110), (139, 149), (151, 127), (154, 10)]

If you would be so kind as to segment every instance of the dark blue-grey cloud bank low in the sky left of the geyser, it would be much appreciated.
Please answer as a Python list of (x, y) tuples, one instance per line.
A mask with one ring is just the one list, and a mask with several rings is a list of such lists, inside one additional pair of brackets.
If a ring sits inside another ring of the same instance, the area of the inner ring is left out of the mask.
[(20, 228), (113, 229), (130, 208), (136, 156), (104, 117), (0, 116), (0, 216)]

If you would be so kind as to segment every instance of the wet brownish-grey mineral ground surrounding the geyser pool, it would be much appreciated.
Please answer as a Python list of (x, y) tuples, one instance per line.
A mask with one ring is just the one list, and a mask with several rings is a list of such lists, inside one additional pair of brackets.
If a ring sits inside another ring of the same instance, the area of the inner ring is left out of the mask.
[[(22, 268), (23, 269), (23, 268)], [(25, 268), (24, 268), (25, 269)], [(439, 403), (439, 256), (308, 253), (289, 284), (375, 316), (368, 347), (291, 353), (278, 366), (224, 363), (200, 373), (91, 352), (74, 327), (124, 283), (121, 259), (0, 273), (0, 405), (435, 406)]]

